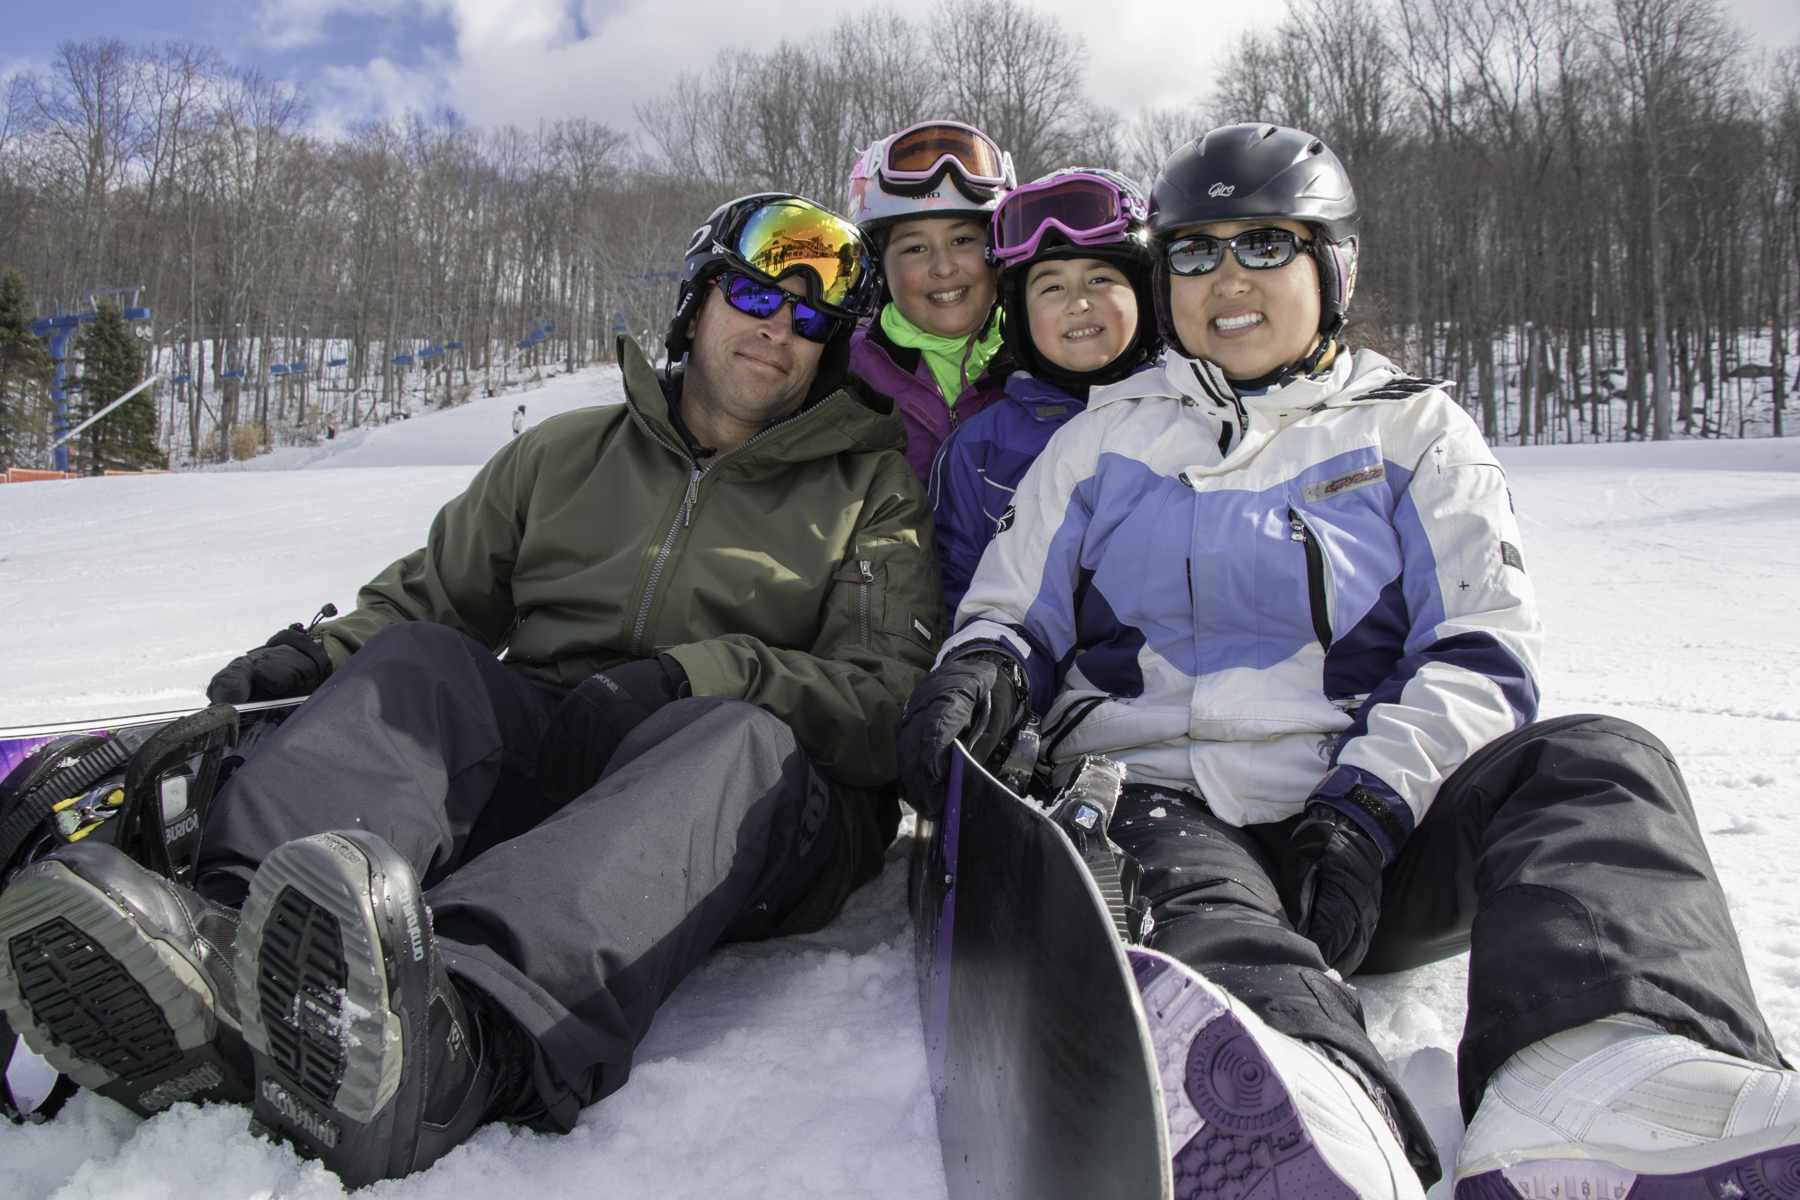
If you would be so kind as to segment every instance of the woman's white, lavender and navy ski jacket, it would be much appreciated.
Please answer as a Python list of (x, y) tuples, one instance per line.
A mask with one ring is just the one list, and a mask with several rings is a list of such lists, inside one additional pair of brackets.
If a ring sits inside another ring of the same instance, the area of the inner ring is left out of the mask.
[(1499, 462), (1438, 381), (1359, 351), (1238, 398), (1170, 353), (1051, 437), (940, 662), (1019, 658), (1057, 765), (1107, 754), (1238, 826), (1321, 799), (1391, 860), (1537, 712), (1517, 547)]

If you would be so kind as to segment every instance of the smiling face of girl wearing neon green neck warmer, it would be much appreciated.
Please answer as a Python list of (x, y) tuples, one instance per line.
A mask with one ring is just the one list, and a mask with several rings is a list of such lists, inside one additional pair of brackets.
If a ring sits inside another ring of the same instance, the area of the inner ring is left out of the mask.
[(900, 315), (941, 338), (967, 338), (981, 329), (999, 286), (986, 245), (988, 227), (967, 218), (895, 225), (882, 272)]

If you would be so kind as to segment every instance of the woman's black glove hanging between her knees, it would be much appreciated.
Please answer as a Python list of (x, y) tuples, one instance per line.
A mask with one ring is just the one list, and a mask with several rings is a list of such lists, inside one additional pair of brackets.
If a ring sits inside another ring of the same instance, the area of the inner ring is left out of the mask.
[(1282, 858), (1282, 900), (1294, 932), (1310, 937), (1328, 966), (1363, 964), (1381, 919), (1381, 847), (1330, 804), (1307, 804)]

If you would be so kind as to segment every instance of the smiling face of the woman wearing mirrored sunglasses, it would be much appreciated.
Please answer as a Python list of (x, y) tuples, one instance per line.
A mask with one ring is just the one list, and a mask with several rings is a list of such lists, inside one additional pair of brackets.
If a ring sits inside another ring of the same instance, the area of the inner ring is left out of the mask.
[[(1310, 239), (1300, 221), (1215, 221), (1181, 237), (1237, 237), (1251, 228), (1285, 228)], [(1310, 254), (1287, 266), (1247, 270), (1228, 250), (1204, 275), (1168, 275), (1168, 308), (1181, 344), (1219, 363), (1228, 380), (1255, 380), (1296, 363), (1319, 342), (1319, 268)]]

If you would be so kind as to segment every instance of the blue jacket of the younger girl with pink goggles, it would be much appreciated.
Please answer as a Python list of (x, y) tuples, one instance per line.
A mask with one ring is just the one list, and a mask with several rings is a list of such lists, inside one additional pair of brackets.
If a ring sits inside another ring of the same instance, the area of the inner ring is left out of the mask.
[(931, 507), (938, 516), (943, 610), (956, 617), (981, 551), (988, 549), (1013, 488), (1049, 435), (1087, 403), (1024, 371), (1006, 380), (1006, 398), (950, 430), (931, 464)]

